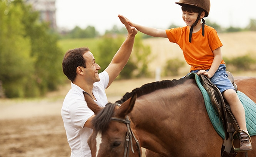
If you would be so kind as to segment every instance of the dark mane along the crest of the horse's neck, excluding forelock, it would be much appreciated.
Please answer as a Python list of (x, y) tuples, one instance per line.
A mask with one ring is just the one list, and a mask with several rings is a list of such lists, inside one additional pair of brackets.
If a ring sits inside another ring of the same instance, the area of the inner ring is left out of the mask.
[(149, 94), (159, 89), (165, 89), (165, 88), (177, 86), (178, 84), (183, 84), (189, 78), (190, 77), (181, 78), (178, 80), (177, 79), (163, 80), (163, 81), (156, 81), (153, 83), (144, 84), (141, 87), (133, 89), (131, 92), (126, 92), (126, 94), (123, 95), (123, 97), (120, 100), (117, 100), (115, 103), (123, 104), (123, 102), (128, 100), (133, 95), (134, 92), (136, 92), (137, 97), (140, 97), (142, 95)]

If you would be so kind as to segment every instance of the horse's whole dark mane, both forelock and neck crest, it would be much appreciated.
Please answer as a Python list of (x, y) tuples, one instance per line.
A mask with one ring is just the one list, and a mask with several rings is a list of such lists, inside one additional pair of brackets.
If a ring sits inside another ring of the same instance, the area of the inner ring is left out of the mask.
[[(163, 80), (163, 81), (156, 81), (153, 83), (144, 84), (141, 87), (133, 89), (131, 92), (126, 92), (123, 97), (116, 101), (118, 104), (122, 104), (127, 99), (129, 99), (134, 92), (136, 92), (137, 97), (140, 97), (141, 95), (149, 94), (151, 92), (154, 92), (159, 89), (165, 89), (169, 87), (177, 86), (178, 84), (183, 84), (187, 78), (181, 78), (181, 79), (173, 79), (173, 80)], [(106, 131), (108, 129), (108, 125), (111, 121), (111, 117), (113, 117), (115, 104), (108, 103), (106, 104), (106, 107), (104, 107), (92, 120), (92, 125), (96, 131), (100, 131), (101, 133), (103, 131)]]

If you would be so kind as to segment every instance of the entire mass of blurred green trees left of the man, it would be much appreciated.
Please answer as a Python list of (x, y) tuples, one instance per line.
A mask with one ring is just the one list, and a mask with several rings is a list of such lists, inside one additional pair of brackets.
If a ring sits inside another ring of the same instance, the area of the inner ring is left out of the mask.
[(22, 0), (1, 0), (0, 80), (7, 97), (35, 97), (62, 83), (57, 36)]

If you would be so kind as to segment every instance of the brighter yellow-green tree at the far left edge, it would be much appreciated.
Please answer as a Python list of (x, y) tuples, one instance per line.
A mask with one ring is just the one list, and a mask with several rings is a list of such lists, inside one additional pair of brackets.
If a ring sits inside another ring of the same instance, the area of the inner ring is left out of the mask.
[[(7, 97), (25, 97), (33, 78), (33, 58), (29, 55), (30, 39), (22, 24), (22, 7), (0, 2), (0, 79)], [(33, 89), (34, 92), (38, 91)]]

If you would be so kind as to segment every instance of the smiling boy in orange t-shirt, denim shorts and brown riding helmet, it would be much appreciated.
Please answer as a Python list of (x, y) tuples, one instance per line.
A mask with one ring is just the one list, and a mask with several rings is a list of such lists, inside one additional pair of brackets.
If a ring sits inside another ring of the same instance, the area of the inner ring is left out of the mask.
[(246, 129), (244, 108), (234, 86), (227, 77), (226, 66), (221, 54), (222, 43), (216, 30), (204, 25), (203, 18), (209, 15), (209, 0), (180, 0), (177, 4), (181, 5), (185, 27), (156, 29), (133, 23), (124, 16), (120, 17), (144, 34), (165, 37), (180, 46), (186, 62), (191, 65), (190, 72), (198, 75), (204, 74), (208, 77), (228, 101), (240, 129), (243, 130), (239, 136), (240, 151), (251, 151), (252, 146)]

